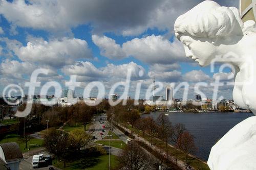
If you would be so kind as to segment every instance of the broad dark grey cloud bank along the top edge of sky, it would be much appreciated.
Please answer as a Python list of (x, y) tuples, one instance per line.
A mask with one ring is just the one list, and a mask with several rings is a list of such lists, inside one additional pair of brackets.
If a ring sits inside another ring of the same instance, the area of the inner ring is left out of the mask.
[[(57, 32), (70, 31), (78, 25), (90, 23), (96, 33), (116, 32), (127, 36), (139, 35), (148, 28), (172, 30), (175, 19), (200, 2), (201, 0), (3, 0), (0, 3), (0, 13), (19, 27)], [(227, 6), (238, 6), (239, 3), (238, 0), (217, 2)]]

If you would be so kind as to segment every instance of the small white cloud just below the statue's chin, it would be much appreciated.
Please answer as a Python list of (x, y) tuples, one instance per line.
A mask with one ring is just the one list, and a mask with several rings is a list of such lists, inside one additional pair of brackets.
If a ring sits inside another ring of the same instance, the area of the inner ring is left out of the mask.
[(192, 70), (187, 72), (183, 76), (183, 79), (187, 82), (206, 82), (210, 80), (210, 77), (206, 75), (202, 70)]

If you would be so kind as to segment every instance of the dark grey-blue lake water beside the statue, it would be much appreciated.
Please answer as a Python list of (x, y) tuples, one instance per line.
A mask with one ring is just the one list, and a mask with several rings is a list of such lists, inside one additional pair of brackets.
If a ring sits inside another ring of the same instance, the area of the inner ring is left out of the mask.
[(194, 155), (207, 161), (211, 147), (224, 136), (231, 128), (244, 119), (254, 116), (252, 113), (235, 112), (207, 112), (207, 113), (175, 113), (175, 112), (152, 112), (144, 114), (156, 119), (161, 113), (169, 114), (172, 124), (182, 123), (186, 129), (195, 136), (198, 148)]

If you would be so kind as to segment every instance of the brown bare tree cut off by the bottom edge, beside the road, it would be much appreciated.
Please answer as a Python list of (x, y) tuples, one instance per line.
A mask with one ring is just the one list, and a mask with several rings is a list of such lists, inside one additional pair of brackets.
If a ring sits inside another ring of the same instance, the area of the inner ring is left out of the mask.
[(152, 166), (150, 155), (146, 154), (136, 142), (127, 144), (117, 161), (125, 170), (148, 170)]

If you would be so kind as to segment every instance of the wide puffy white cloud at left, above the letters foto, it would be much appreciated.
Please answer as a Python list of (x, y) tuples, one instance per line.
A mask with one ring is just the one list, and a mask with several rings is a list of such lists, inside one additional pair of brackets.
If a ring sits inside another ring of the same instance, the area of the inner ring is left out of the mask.
[(15, 55), (22, 61), (60, 67), (73, 64), (76, 59), (92, 59), (91, 50), (85, 40), (77, 38), (50, 41), (32, 38), (30, 40), (26, 46), (14, 49)]

